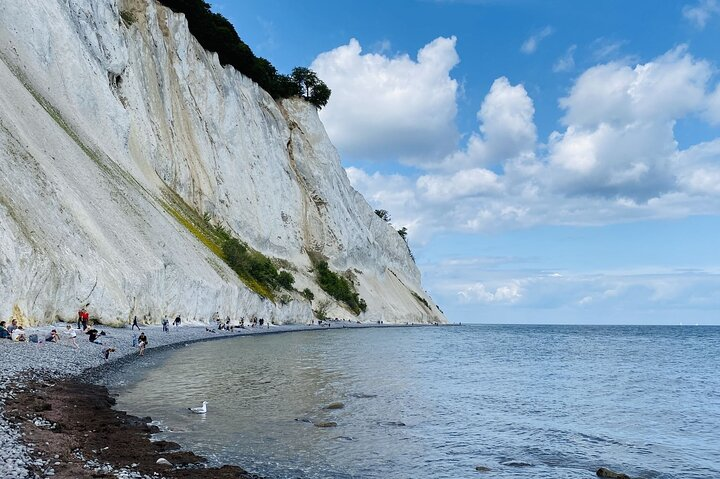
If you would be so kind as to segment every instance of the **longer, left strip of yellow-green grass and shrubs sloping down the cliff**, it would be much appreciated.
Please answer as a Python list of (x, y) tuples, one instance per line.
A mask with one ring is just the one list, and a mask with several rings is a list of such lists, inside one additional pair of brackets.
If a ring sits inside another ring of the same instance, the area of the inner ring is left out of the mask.
[(222, 226), (213, 225), (208, 215), (200, 216), (171, 189), (168, 188), (165, 193), (168, 199), (162, 202), (165, 210), (230, 266), (248, 288), (271, 301), (275, 301), (277, 290), (293, 290), (295, 278), (291, 273), (278, 271), (270, 258), (240, 241)]

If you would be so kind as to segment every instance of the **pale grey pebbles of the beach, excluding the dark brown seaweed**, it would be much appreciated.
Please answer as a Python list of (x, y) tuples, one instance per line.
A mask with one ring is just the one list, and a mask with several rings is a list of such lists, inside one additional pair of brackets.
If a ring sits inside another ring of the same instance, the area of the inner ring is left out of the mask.
[[(374, 326), (374, 325), (373, 325)], [(77, 334), (75, 348), (68, 336), (62, 334), (66, 330), (65, 323), (45, 325), (39, 328), (26, 329), (29, 334), (38, 334), (45, 337), (52, 329), (61, 333), (61, 340), (55, 342), (32, 343), (0, 340), (0, 362), (3, 365), (0, 375), (0, 477), (3, 479), (26, 479), (36, 477), (56, 477), (55, 468), (62, 461), (58, 457), (38, 457), (38, 451), (33, 443), (23, 435), (22, 424), (10, 421), (6, 414), (6, 404), (16, 401), (22, 394), (28, 396), (25, 389), (28, 385), (52, 386), (55, 382), (74, 380), (80, 383), (94, 383), (102, 379), (105, 368), (112, 368), (117, 361), (142, 361), (138, 348), (133, 346), (133, 337), (139, 332), (130, 327), (110, 328), (95, 326), (104, 331), (105, 335), (99, 337), (102, 344), (92, 343), (88, 336), (81, 331)], [(329, 326), (318, 325), (272, 325), (270, 327), (247, 327), (234, 331), (217, 331), (207, 324), (171, 326), (169, 332), (164, 332), (161, 326), (144, 326), (142, 332), (149, 344), (146, 355), (152, 355), (153, 349), (173, 347), (196, 341), (216, 340), (229, 337), (247, 336), (253, 334), (273, 334), (291, 331), (305, 331), (313, 329), (337, 329), (349, 327), (367, 327), (349, 322), (330, 323)], [(75, 326), (73, 325), (73, 328)], [(212, 331), (208, 331), (212, 329)], [(110, 353), (108, 360), (104, 357), (104, 350), (115, 349)], [(23, 421), (31, 421), (34, 426), (43, 428), (51, 425), (44, 424), (46, 420), (41, 417), (23, 417)], [(88, 472), (87, 477), (118, 477), (118, 478), (144, 478), (159, 477), (157, 475), (143, 475), (136, 471), (114, 469), (98, 461), (86, 461), (84, 465)], [(41, 472), (38, 472), (41, 471)], [(93, 474), (101, 474), (93, 476)], [(60, 477), (60, 476), (57, 476)], [(173, 476), (174, 477), (174, 476)]]

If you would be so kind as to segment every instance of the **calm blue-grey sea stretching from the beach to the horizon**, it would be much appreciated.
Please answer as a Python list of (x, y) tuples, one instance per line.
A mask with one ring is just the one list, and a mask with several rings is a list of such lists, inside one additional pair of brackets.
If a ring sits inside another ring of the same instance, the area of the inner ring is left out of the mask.
[(709, 479), (719, 366), (718, 327), (473, 325), (197, 343), (112, 381), (159, 438), (270, 479)]

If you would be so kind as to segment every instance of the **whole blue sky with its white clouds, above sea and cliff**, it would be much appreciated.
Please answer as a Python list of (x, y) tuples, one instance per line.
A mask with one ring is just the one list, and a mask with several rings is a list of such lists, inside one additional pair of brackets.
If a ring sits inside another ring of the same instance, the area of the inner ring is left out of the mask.
[(720, 324), (720, 0), (211, 4), (450, 321)]

